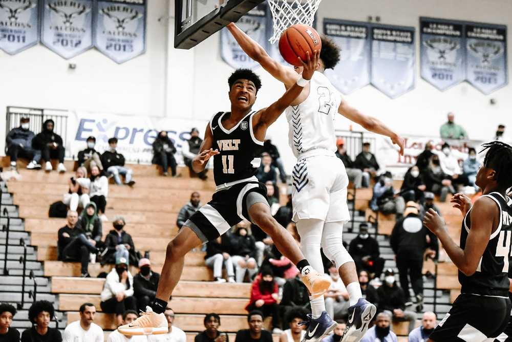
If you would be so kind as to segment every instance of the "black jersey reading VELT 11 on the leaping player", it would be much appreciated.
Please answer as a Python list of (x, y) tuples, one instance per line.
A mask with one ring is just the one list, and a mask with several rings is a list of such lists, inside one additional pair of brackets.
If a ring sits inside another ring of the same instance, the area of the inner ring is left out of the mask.
[(214, 156), (214, 179), (216, 185), (247, 179), (256, 174), (261, 164), (260, 154), (263, 141), (254, 137), (250, 112), (232, 129), (226, 130), (222, 118), (229, 112), (219, 112), (210, 120), (214, 136), (214, 149), (220, 154)]

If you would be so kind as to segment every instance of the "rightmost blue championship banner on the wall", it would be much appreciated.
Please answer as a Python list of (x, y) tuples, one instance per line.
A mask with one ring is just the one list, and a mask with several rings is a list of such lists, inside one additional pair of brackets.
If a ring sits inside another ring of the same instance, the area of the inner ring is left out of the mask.
[(508, 83), (506, 26), (468, 23), (465, 38), (467, 81), (486, 95), (505, 86)]

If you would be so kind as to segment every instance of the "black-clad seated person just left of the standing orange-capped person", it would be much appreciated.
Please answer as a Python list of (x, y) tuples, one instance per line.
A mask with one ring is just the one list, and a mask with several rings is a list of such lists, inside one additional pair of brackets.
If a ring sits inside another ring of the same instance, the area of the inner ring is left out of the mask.
[(380, 277), (385, 260), (380, 257), (379, 243), (368, 233), (368, 223), (359, 225), (359, 234), (350, 241), (349, 253), (358, 271), (367, 270), (372, 279)]

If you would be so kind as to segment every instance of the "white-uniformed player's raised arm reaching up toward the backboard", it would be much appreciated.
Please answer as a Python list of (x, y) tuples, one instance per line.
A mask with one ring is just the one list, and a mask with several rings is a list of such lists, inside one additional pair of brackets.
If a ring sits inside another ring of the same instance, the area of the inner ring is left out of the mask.
[(245, 32), (240, 30), (234, 23), (228, 24), (227, 28), (249, 57), (260, 63), (263, 69), (274, 76), (274, 78), (283, 82), (286, 89), (293, 87), (293, 84), (300, 76), (293, 71), (292, 68), (285, 67), (272, 59), (258, 42), (245, 34)]

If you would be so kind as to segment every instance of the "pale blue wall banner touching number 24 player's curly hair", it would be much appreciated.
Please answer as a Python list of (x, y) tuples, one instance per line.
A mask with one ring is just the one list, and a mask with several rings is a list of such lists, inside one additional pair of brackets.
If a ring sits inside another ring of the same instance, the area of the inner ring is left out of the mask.
[(324, 19), (324, 34), (341, 49), (339, 63), (325, 75), (347, 95), (370, 83), (370, 28), (365, 23)]

